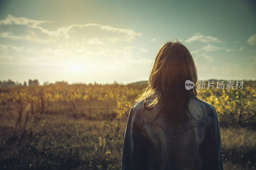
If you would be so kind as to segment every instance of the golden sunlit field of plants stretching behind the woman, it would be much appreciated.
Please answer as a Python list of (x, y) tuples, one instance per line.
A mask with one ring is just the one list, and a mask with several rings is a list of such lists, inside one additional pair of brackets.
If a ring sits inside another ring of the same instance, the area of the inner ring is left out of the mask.
[[(120, 169), (130, 108), (145, 84), (0, 88), (0, 169)], [(206, 89), (224, 169), (256, 168), (256, 82)]]

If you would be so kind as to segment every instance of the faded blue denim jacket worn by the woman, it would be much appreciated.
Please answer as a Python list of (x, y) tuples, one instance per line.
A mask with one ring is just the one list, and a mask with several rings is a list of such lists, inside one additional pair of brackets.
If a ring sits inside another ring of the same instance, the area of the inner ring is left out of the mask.
[(223, 169), (220, 125), (212, 105), (190, 95), (192, 116), (176, 128), (167, 113), (156, 118), (159, 109), (146, 109), (144, 101), (131, 108), (121, 169)]

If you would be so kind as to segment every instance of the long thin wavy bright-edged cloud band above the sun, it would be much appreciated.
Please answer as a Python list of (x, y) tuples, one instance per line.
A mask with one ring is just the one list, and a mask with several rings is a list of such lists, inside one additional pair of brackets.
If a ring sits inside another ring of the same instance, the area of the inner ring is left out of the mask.
[(4, 20), (0, 20), (0, 24), (1, 25), (12, 25), (12, 24), (16, 24), (16, 25), (26, 25), (30, 28), (34, 28), (34, 29), (39, 29), (41, 30), (42, 33), (46, 33), (50, 36), (56, 36), (57, 38), (62, 36), (64, 38), (69, 38), (70, 36), (68, 35), (68, 31), (74, 27), (78, 27), (78, 28), (82, 28), (82, 27), (89, 27), (89, 26), (97, 26), (100, 27), (101, 30), (106, 30), (106, 31), (111, 31), (111, 32), (116, 32), (116, 33), (124, 33), (128, 36), (127, 39), (125, 39), (124, 41), (132, 41), (133, 39), (135, 39), (136, 36), (140, 36), (142, 35), (141, 33), (136, 33), (135, 31), (131, 30), (131, 29), (123, 29), (123, 28), (115, 28), (112, 26), (103, 26), (100, 24), (96, 24), (96, 23), (88, 23), (88, 24), (74, 24), (74, 25), (70, 25), (70, 26), (66, 26), (66, 27), (60, 27), (58, 28), (56, 31), (49, 31), (41, 26), (39, 26), (42, 23), (49, 23), (51, 21), (49, 20), (33, 20), (33, 19), (29, 19), (29, 18), (25, 18), (25, 17), (13, 17), (12, 15), (8, 15), (8, 17)]

